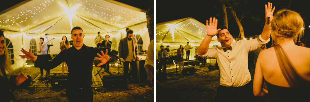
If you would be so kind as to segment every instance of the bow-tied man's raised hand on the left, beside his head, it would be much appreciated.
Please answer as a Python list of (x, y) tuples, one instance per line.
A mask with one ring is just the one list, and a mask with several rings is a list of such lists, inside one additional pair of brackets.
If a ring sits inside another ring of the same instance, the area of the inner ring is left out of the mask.
[(210, 21), (206, 21), (206, 26), (207, 26), (207, 35), (209, 36), (215, 36), (219, 33), (219, 30), (221, 29), (216, 29), (217, 27), (217, 19), (215, 19), (215, 17), (213, 18), (213, 21), (212, 21), (212, 18), (210, 17)]

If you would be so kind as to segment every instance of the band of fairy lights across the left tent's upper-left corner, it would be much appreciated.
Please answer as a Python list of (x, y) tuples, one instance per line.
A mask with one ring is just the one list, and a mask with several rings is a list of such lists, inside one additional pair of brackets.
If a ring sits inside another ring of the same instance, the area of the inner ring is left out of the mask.
[[(34, 6), (30, 10), (20, 12), (20, 14), (17, 14), (15, 16), (11, 16), (10, 18), (0, 20), (0, 24), (3, 24), (2, 26), (0, 25), (0, 27), (10, 27), (14, 24), (18, 24), (18, 22), (23, 23), (24, 21), (26, 21), (26, 19), (33, 17), (34, 15), (38, 15), (38, 13), (42, 12), (42, 10), (45, 10), (44, 7), (49, 6), (53, 1), (54, 0), (52, 0), (52, 1), (47, 0), (45, 2), (42, 2), (42, 4)], [(24, 19), (20, 18), (22, 16), (24, 17)], [(20, 19), (20, 20), (18, 20), (18, 19)]]

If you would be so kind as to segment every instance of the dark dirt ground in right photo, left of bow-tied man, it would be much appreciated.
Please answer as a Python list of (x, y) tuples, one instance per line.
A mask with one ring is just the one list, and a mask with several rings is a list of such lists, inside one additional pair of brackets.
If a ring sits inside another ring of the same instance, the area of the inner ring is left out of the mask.
[[(193, 67), (193, 66), (192, 66)], [(178, 68), (179, 69), (179, 68)], [(195, 67), (190, 76), (173, 75), (175, 69), (167, 69), (167, 80), (160, 81), (156, 88), (156, 100), (159, 102), (213, 102), (216, 88), (219, 86), (219, 70), (208, 67)]]

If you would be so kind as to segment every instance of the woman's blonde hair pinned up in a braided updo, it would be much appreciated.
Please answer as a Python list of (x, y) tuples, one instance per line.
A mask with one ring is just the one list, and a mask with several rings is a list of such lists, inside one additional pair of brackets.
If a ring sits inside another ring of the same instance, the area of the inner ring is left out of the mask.
[[(276, 32), (278, 30), (278, 33)], [(271, 21), (271, 37), (272, 44), (279, 44), (276, 39), (281, 38), (291, 38), (297, 39), (301, 38), (304, 34), (304, 22), (301, 16), (292, 10), (282, 9), (279, 10)], [(281, 39), (280, 39), (281, 41)]]

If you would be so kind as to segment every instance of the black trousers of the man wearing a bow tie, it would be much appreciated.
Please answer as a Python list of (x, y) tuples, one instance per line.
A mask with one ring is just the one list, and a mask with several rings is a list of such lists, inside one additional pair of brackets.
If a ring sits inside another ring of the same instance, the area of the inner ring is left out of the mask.
[(250, 84), (241, 87), (219, 85), (216, 90), (215, 102), (252, 102), (253, 88)]

